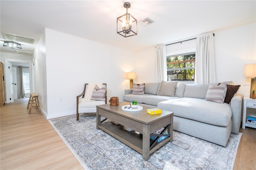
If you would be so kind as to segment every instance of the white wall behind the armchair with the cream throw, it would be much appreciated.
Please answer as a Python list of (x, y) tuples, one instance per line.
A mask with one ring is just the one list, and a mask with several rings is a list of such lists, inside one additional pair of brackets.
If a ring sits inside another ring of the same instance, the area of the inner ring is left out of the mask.
[(46, 73), (39, 77), (46, 77), (47, 88), (35, 89), (44, 89), (40, 93), (47, 89), (47, 94), (41, 94), (47, 96), (47, 119), (75, 114), (76, 96), (84, 83), (107, 83), (108, 100), (113, 96), (122, 100), (123, 90), (129, 88), (126, 72), (135, 71), (134, 53), (50, 29), (45, 29), (45, 40)]

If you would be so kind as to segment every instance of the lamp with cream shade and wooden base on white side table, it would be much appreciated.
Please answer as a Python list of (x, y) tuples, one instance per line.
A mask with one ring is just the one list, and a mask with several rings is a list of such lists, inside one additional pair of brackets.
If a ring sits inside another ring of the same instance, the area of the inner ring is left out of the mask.
[(254, 77), (251, 79), (251, 89), (250, 89), (250, 98), (252, 97), (252, 93), (255, 93), (256, 90), (256, 64), (245, 64), (244, 65), (244, 77)]

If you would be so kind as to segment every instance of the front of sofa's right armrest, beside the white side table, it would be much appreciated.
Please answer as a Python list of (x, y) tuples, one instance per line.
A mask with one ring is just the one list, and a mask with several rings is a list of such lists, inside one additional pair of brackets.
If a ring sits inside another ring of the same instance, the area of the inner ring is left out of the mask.
[(238, 134), (241, 125), (242, 95), (236, 95), (231, 99), (232, 133)]

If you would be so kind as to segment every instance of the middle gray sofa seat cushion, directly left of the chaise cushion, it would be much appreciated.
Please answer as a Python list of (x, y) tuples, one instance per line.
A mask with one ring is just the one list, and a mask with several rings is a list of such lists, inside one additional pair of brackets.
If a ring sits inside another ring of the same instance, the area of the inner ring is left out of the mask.
[(159, 95), (151, 95), (143, 97), (142, 103), (145, 103), (147, 105), (154, 105), (157, 106), (159, 102), (167, 101), (170, 99), (178, 99), (180, 97), (170, 97), (170, 96), (159, 96)]

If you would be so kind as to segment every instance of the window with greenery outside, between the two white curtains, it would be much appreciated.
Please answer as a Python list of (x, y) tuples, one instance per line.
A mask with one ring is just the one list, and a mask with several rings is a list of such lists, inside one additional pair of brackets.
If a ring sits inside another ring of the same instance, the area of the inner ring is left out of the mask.
[(167, 80), (194, 82), (196, 52), (167, 56)]

